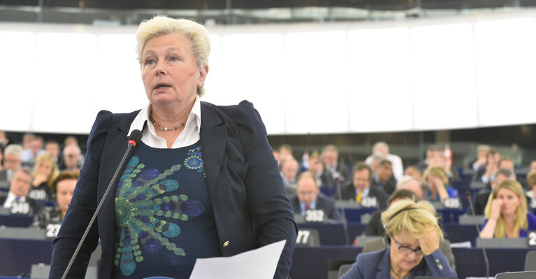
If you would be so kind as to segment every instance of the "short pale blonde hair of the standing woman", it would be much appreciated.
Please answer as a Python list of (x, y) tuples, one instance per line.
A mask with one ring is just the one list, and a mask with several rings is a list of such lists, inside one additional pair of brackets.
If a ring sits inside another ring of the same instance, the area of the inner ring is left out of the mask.
[[(140, 23), (136, 32), (136, 53), (138, 62), (142, 65), (143, 49), (150, 39), (167, 34), (182, 34), (188, 38), (191, 44), (191, 52), (196, 57), (197, 66), (205, 71), (204, 66), (208, 66), (208, 55), (210, 54), (210, 38), (207, 29), (194, 20), (184, 18), (173, 19), (166, 15), (156, 15), (150, 20)], [(197, 88), (197, 94), (203, 96), (205, 88), (203, 85)]]

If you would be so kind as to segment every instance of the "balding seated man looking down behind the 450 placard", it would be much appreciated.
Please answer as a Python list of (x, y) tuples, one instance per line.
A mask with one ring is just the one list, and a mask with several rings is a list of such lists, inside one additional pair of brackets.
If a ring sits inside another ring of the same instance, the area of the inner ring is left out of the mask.
[[(298, 176), (296, 196), (290, 197), (290, 203), (294, 213), (303, 215), (305, 220), (310, 219), (307, 221), (341, 220), (335, 202), (320, 194), (317, 180), (309, 171), (304, 171)], [(314, 216), (307, 216), (308, 210), (317, 212)]]

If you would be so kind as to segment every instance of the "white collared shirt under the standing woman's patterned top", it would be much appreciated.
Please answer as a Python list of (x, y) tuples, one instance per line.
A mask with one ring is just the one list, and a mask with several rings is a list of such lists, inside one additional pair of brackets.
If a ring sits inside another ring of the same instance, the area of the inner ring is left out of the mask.
[[(149, 145), (152, 148), (168, 148), (166, 140), (157, 136), (154, 126), (149, 121), (149, 115), (151, 113), (150, 106), (150, 103), (147, 103), (147, 105), (140, 110), (140, 113), (136, 115), (136, 118), (134, 118), (134, 121), (130, 124), (129, 135), (133, 130), (138, 129), (142, 131), (141, 141), (146, 145)], [(199, 131), (201, 131), (201, 101), (199, 101), (199, 96), (196, 96), (196, 101), (194, 101), (194, 106), (191, 108), (186, 124), (184, 124), (184, 129), (175, 139), (171, 148), (182, 148), (196, 143), (200, 138)]]

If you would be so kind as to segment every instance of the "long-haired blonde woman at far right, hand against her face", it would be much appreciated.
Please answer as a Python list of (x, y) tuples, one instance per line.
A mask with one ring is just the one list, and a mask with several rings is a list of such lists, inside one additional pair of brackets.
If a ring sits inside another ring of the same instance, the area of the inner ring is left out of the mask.
[(481, 238), (526, 237), (536, 229), (536, 216), (527, 213), (523, 187), (514, 180), (502, 181), (489, 195), (484, 214), (487, 219), (480, 228)]

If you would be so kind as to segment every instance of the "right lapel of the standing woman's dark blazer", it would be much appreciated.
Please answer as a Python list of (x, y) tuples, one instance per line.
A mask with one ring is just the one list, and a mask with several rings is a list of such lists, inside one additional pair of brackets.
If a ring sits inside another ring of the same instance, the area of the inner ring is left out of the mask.
[(222, 166), (226, 146), (227, 126), (215, 111), (205, 102), (201, 102), (201, 150), (207, 178), (208, 192), (212, 204), (219, 168)]

